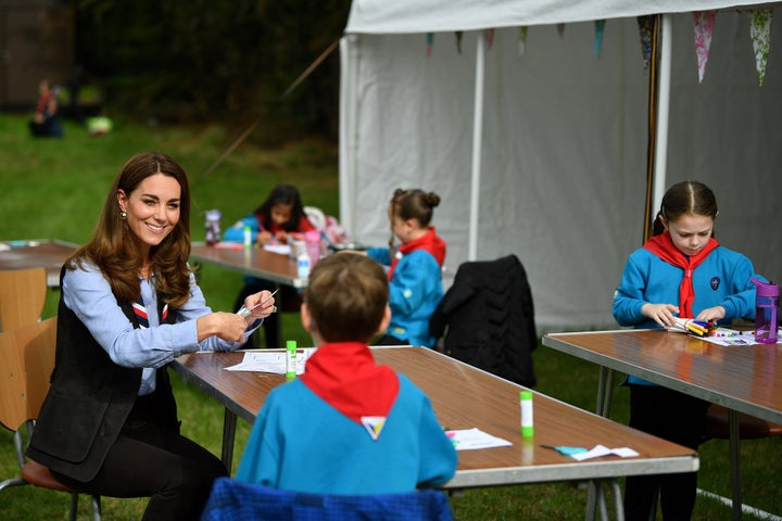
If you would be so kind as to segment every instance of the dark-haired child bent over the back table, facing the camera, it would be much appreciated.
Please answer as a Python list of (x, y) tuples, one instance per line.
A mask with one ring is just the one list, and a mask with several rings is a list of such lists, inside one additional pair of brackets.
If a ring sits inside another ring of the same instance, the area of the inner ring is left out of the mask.
[[(266, 244), (275, 241), (280, 244), (288, 243), (293, 232), (312, 231), (315, 227), (304, 214), (304, 206), (299, 190), (292, 185), (278, 185), (269, 192), (261, 206), (245, 215), (236, 225), (228, 228), (223, 239), (229, 242), (243, 242), (244, 228), (250, 227), (253, 243)], [(239, 291), (236, 305), (237, 309), (244, 302), (248, 295), (262, 290), (274, 291), (277, 284), (267, 280), (245, 276), (244, 287)], [(282, 306), (290, 308), (291, 303), (301, 300), (295, 288), (290, 285), (280, 287), (278, 300)], [(286, 304), (287, 303), (287, 304)], [(266, 347), (280, 347), (279, 316), (274, 314), (264, 321), (264, 336)], [(244, 348), (257, 347), (257, 341), (252, 335), (248, 339)]]

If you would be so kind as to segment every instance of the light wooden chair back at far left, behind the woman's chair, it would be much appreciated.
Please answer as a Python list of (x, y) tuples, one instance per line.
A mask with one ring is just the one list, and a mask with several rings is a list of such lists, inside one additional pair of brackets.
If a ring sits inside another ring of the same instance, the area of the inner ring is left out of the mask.
[(46, 304), (46, 269), (0, 271), (0, 331), (37, 322)]

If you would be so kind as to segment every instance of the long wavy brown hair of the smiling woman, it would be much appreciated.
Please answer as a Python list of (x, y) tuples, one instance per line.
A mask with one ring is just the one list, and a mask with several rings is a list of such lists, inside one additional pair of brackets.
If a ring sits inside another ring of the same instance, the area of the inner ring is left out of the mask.
[(190, 294), (190, 268), (187, 265), (190, 257), (190, 189), (185, 170), (168, 155), (143, 152), (125, 163), (109, 190), (92, 238), (71, 259), (81, 266), (83, 258), (88, 258), (98, 266), (118, 302), (137, 301), (141, 292), (139, 269), (143, 259), (138, 237), (121, 216), (117, 193), (123, 190), (129, 196), (141, 181), (156, 174), (176, 179), (181, 193), (179, 221), (159, 245), (150, 250), (151, 269), (155, 274), (157, 291), (165, 294), (165, 301), (172, 307), (180, 307)]

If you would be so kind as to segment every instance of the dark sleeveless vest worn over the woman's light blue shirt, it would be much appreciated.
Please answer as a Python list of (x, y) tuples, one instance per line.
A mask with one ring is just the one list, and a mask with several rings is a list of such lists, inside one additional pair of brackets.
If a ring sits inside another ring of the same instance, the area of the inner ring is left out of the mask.
[[(60, 272), (60, 285), (65, 274)], [(157, 294), (157, 316), (164, 295)], [(119, 303), (138, 328), (131, 303)], [(174, 323), (176, 310), (165, 321)], [(141, 368), (114, 364), (76, 314), (60, 296), (58, 335), (51, 387), (41, 407), (27, 456), (75, 480), (94, 478), (138, 398)], [(152, 405), (160, 423), (179, 431), (176, 402), (165, 367), (157, 369), (154, 393), (142, 399)]]

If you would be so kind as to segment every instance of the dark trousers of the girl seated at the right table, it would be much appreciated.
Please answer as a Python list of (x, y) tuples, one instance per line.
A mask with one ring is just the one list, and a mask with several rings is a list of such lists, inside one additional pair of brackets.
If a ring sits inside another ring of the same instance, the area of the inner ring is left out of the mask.
[[(709, 403), (657, 385), (630, 385), (630, 427), (669, 442), (697, 449), (703, 440)], [(625, 487), (625, 519), (655, 519), (657, 496), (666, 521), (692, 517), (697, 472), (629, 476)]]

